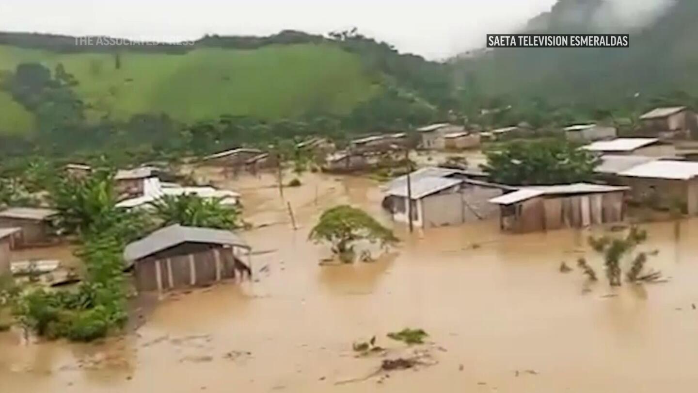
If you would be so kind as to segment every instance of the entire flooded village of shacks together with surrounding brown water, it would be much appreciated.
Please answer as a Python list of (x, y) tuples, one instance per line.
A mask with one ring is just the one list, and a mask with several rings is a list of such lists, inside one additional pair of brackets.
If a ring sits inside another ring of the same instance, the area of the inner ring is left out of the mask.
[[(245, 225), (163, 224), (128, 243), (124, 329), (72, 343), (8, 326), (0, 386), (690, 391), (698, 362), (697, 120), (688, 108), (658, 108), (633, 134), (597, 124), (542, 131), (444, 122), (343, 148), (320, 137), (299, 141), (295, 151), (317, 163), (308, 171), (295, 171), (278, 150), (236, 146), (165, 170), (121, 169), (113, 177), (121, 209), (195, 195), (242, 209)], [(511, 184), (487, 170), (491, 151), (507, 141), (551, 137), (593, 157), (593, 178)], [(96, 169), (73, 163), (65, 171), (89, 178)], [(358, 241), (352, 262), (340, 262), (310, 237), (323, 212), (341, 205), (368, 213), (399, 242)], [(75, 239), (50, 229), (57, 214), (50, 206), (0, 211), (0, 273), (24, 280), (29, 270), (34, 285), (53, 290), (79, 280)], [(643, 262), (626, 282), (635, 262), (624, 260), (623, 285), (609, 285), (588, 238), (618, 238), (635, 225), (646, 231), (635, 244)], [(426, 336), (389, 337), (406, 328)]]

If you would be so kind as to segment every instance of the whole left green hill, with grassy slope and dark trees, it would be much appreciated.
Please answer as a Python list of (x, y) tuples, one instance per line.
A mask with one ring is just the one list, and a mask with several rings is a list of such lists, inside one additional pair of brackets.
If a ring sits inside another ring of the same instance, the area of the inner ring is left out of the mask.
[(223, 119), (288, 129), (320, 119), (334, 129), (381, 129), (430, 121), (453, 106), (445, 64), (356, 31), (79, 44), (71, 36), (0, 33), (0, 136), (124, 128), (143, 117), (182, 127)]

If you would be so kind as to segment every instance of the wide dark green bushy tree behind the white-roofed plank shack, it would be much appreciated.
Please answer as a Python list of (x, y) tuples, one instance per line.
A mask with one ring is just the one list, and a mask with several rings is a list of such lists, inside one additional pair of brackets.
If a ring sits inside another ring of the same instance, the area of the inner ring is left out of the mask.
[(485, 152), (484, 171), (508, 185), (553, 185), (591, 180), (599, 160), (560, 139), (512, 141)]

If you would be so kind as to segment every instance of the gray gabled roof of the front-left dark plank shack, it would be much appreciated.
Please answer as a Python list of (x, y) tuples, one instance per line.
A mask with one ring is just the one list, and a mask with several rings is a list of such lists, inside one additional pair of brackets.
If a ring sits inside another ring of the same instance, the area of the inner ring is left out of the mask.
[(250, 248), (246, 241), (232, 231), (174, 224), (127, 245), (124, 249), (124, 259), (135, 261), (181, 243), (210, 243)]

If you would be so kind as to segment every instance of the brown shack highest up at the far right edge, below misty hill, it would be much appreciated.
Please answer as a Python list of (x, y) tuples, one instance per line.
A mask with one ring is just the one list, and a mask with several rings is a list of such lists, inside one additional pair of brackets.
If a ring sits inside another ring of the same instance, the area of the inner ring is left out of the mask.
[(695, 113), (685, 106), (655, 108), (640, 116), (642, 134), (660, 138), (689, 138), (698, 128)]

